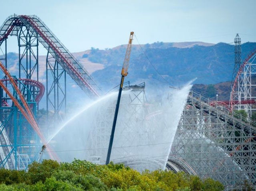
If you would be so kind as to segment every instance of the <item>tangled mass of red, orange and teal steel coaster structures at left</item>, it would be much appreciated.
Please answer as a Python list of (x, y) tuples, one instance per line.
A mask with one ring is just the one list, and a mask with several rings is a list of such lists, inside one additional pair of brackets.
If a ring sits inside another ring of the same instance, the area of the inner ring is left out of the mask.
[[(8, 38), (18, 40), (18, 74), (8, 71)], [(39, 43), (47, 50), (45, 61), (46, 87), (39, 82)], [(38, 126), (38, 103), (46, 94), (46, 120), (60, 120), (66, 107), (68, 74), (89, 96), (101, 95), (100, 87), (60, 40), (37, 16), (12, 15), (0, 28), (0, 48), (3, 52), (0, 67), (0, 167), (26, 169), (34, 161), (46, 138)], [(54, 114), (48, 116), (48, 111)], [(47, 146), (49, 156), (57, 155)]]

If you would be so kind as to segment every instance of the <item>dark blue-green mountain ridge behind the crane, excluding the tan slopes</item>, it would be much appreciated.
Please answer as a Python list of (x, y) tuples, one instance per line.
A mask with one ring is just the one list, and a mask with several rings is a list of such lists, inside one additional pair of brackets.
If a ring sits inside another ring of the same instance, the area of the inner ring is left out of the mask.
[[(230, 81), (234, 69), (234, 45), (218, 43), (191, 47), (168, 47), (159, 44), (135, 45), (132, 48), (129, 75), (131, 83), (168, 84), (179, 86), (196, 79), (197, 84), (215, 84)], [(242, 60), (256, 47), (256, 43), (242, 44)], [(102, 63), (104, 69), (93, 72), (93, 77), (103, 87), (118, 84), (125, 46), (98, 50), (92, 49), (85, 55), (90, 61)]]

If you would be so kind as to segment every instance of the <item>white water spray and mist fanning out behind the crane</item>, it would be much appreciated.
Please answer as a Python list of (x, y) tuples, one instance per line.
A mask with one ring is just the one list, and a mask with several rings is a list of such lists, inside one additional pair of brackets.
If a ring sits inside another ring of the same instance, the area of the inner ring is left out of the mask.
[[(133, 87), (123, 91), (110, 160), (143, 171), (164, 169), (191, 83), (181, 89)], [(62, 161), (104, 164), (117, 92), (87, 104), (50, 142)]]

